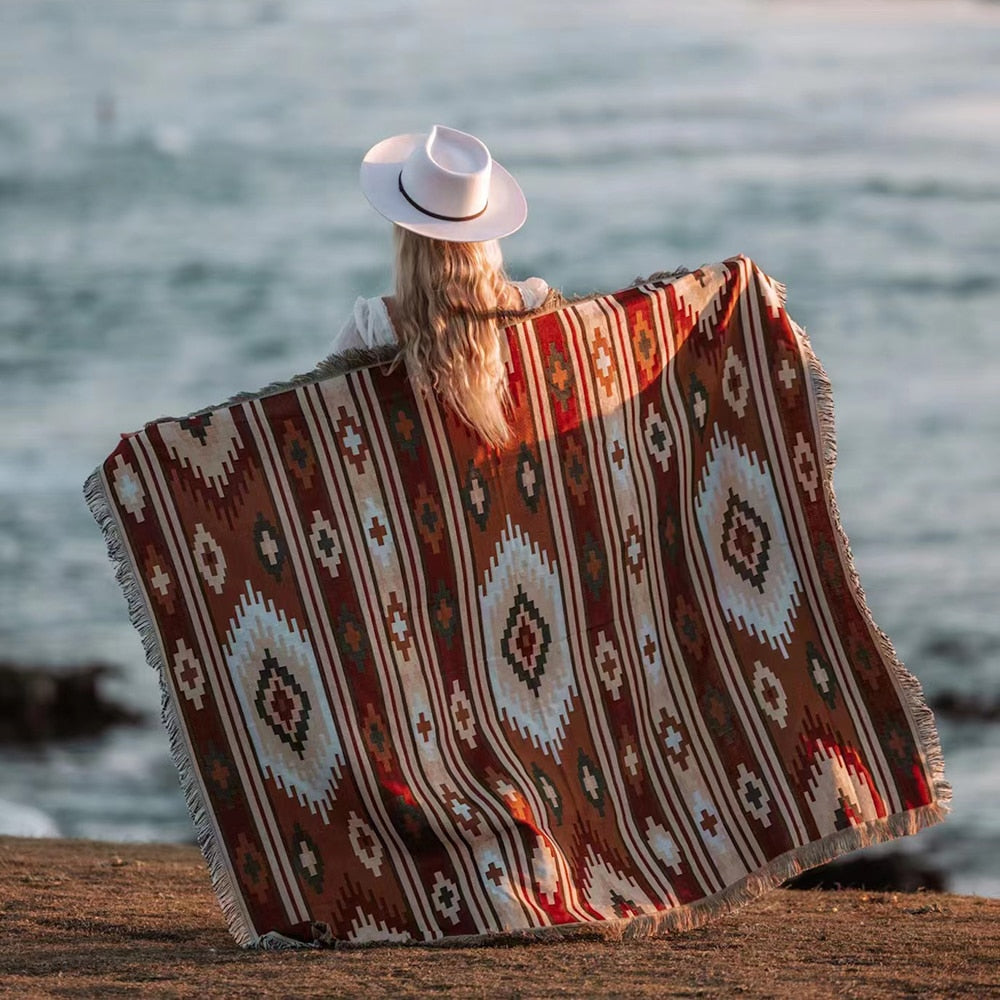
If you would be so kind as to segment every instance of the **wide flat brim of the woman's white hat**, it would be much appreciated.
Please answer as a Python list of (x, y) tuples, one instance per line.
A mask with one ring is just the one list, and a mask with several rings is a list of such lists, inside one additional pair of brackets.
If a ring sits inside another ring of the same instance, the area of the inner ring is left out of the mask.
[(397, 226), (434, 240), (485, 243), (509, 236), (524, 225), (528, 205), (517, 181), (496, 160), (490, 172), (486, 211), (474, 219), (452, 222), (425, 215), (399, 190), (399, 173), (425, 135), (394, 135), (372, 146), (361, 164), (361, 190), (380, 215)]

